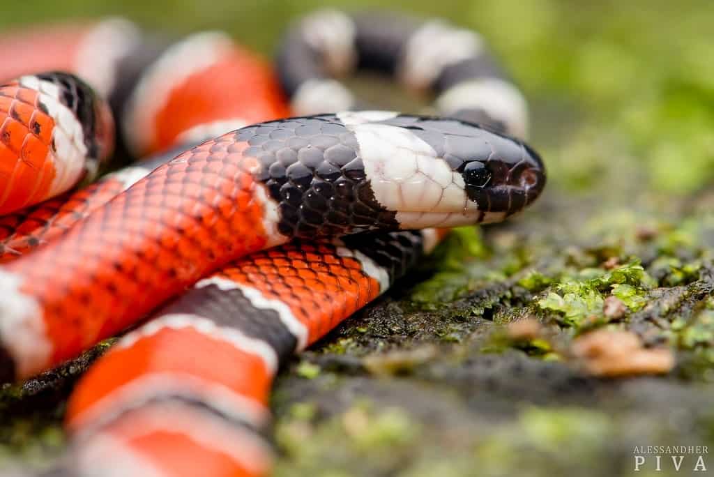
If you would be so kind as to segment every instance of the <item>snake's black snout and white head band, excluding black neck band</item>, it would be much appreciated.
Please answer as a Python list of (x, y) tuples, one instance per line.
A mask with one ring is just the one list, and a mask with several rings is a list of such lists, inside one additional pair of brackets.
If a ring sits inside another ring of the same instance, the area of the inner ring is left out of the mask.
[(459, 119), (341, 114), (357, 137), (376, 200), (401, 228), (498, 222), (545, 186), (540, 156), (518, 139)]

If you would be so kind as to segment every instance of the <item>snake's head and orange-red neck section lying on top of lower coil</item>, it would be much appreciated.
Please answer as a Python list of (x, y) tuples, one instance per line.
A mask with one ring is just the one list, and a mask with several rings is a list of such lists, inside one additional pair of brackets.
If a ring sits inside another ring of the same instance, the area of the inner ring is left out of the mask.
[(295, 238), (499, 221), (535, 199), (542, 178), (524, 144), (458, 120), (371, 111), (248, 126), (8, 263), (3, 345), (29, 376), (234, 258)]

